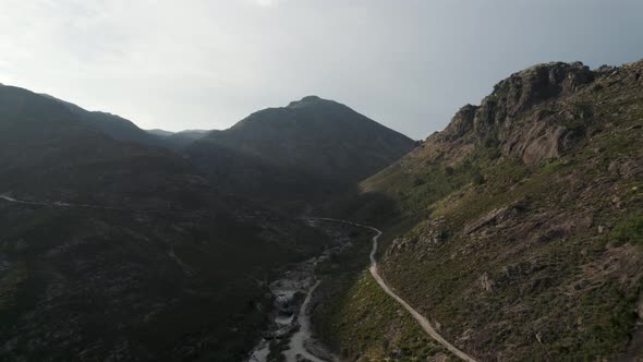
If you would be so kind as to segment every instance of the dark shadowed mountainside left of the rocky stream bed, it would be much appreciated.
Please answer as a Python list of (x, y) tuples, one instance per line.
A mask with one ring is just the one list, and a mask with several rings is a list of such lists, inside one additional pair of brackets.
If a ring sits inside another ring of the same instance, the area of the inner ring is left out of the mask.
[(239, 361), (269, 280), (326, 238), (0, 86), (0, 360)]

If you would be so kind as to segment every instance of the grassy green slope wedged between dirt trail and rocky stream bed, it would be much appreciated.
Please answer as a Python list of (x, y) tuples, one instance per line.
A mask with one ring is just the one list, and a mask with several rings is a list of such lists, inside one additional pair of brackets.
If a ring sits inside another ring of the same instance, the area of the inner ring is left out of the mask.
[(372, 233), (344, 229), (353, 245), (317, 269), (324, 276), (317, 292), (322, 300), (313, 315), (318, 338), (350, 361), (448, 355), (367, 272)]

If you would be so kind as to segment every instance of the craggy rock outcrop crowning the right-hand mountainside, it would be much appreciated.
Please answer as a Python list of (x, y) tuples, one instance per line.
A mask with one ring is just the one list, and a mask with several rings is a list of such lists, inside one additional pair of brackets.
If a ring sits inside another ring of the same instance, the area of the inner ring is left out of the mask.
[(572, 95), (595, 77), (580, 62), (538, 64), (514, 73), (496, 84), (481, 106), (462, 107), (437, 140), (501, 144), (502, 154), (520, 157), (525, 164), (557, 158), (577, 134), (561, 125), (563, 118), (529, 114), (535, 106)]

